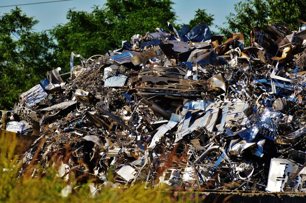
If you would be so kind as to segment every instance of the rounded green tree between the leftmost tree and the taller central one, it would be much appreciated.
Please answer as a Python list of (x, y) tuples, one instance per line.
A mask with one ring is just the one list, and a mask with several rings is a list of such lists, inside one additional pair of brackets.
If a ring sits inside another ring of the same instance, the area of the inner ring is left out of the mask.
[(59, 24), (51, 31), (57, 42), (54, 57), (63, 72), (69, 71), (71, 52), (90, 57), (105, 54), (116, 47), (112, 31), (112, 23), (106, 19), (105, 10), (96, 6), (91, 13), (69, 9), (66, 24)]

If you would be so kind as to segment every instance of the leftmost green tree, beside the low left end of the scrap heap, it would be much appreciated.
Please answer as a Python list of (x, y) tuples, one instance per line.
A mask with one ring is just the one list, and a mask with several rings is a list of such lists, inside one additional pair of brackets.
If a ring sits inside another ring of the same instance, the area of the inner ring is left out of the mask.
[(0, 17), (0, 109), (13, 107), (18, 93), (52, 69), (54, 42), (46, 31), (33, 31), (37, 23), (17, 7)]

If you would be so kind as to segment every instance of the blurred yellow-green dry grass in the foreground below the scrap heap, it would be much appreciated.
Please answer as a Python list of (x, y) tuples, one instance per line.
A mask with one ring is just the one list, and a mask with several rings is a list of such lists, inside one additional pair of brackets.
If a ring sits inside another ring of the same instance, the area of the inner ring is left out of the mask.
[[(67, 182), (55, 176), (56, 169), (48, 169), (43, 175), (32, 177), (33, 172), (25, 172), (17, 179), (20, 170), (17, 138), (14, 133), (0, 136), (0, 202), (201, 202), (204, 197), (192, 192), (174, 194), (165, 188), (145, 189), (144, 185), (130, 188), (102, 187), (95, 195), (89, 190), (88, 183)], [(37, 166), (39, 167), (39, 166)], [(77, 178), (76, 178), (77, 179)], [(71, 193), (63, 197), (62, 192), (71, 188)]]

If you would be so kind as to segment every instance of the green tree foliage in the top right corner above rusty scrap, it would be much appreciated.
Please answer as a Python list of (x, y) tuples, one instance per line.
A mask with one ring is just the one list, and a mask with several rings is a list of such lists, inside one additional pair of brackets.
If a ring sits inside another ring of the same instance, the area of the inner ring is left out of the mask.
[(304, 0), (242, 0), (235, 4), (235, 13), (226, 16), (223, 34), (242, 32), (249, 38), (253, 26), (266, 27), (270, 20), (283, 23), (290, 30), (297, 30), (297, 19), (306, 20)]

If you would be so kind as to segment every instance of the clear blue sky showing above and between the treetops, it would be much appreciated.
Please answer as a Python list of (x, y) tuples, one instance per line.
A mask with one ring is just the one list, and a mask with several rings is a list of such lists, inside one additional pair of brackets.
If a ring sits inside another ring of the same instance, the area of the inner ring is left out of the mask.
[[(0, 0), (0, 6), (45, 1), (47, 0)], [(70, 8), (91, 12), (93, 5), (102, 6), (105, 2), (106, 0), (74, 0), (67, 2), (23, 5), (19, 7), (28, 16), (35, 16), (35, 19), (39, 20), (39, 24), (36, 25), (35, 29), (37, 31), (42, 31), (50, 29), (57, 24), (66, 23), (66, 14)], [(207, 13), (215, 15), (214, 24), (223, 26), (225, 16), (229, 15), (230, 12), (234, 13), (234, 4), (239, 2), (239, 0), (173, 0), (173, 2), (175, 2), (173, 8), (176, 11), (176, 15), (179, 17), (177, 23), (188, 23), (189, 20), (194, 17), (195, 10), (207, 9)], [(8, 13), (13, 8), (14, 7), (0, 8), (0, 15)], [(211, 27), (211, 29), (217, 31), (215, 27)]]

